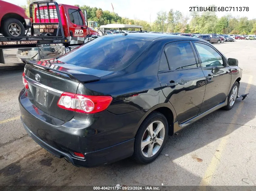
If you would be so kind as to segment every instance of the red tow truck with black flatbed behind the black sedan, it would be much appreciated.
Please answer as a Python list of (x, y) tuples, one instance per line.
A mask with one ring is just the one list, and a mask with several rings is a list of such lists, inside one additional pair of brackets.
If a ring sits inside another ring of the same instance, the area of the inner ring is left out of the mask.
[(100, 36), (88, 26), (86, 10), (77, 6), (38, 0), (29, 5), (29, 17), (30, 34), (27, 30), (24, 37), (0, 36), (0, 63), (57, 58)]

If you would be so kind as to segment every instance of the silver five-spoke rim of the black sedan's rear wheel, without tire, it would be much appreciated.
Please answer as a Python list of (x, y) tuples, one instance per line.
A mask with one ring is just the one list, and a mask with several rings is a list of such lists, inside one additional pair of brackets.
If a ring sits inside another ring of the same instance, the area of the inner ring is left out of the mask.
[(141, 140), (141, 152), (144, 157), (154, 156), (161, 148), (165, 138), (165, 126), (161, 121), (149, 124)]

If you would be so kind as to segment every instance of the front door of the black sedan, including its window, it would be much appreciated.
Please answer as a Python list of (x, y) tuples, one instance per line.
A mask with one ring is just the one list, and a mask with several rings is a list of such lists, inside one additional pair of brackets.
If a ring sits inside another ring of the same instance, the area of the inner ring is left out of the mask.
[(194, 46), (206, 77), (204, 101), (199, 112), (203, 113), (226, 100), (231, 84), (231, 73), (221, 54), (213, 47), (203, 42), (194, 42)]

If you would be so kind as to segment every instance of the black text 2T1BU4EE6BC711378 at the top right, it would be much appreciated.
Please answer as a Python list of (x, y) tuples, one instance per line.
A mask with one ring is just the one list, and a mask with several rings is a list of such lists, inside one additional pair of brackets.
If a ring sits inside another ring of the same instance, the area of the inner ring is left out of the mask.
[(249, 11), (249, 7), (189, 7), (189, 11)]

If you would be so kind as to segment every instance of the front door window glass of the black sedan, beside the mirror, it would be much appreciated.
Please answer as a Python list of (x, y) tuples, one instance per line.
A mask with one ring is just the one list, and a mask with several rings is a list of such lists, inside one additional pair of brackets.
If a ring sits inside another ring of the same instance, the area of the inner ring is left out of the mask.
[(221, 55), (210, 46), (202, 43), (194, 43), (201, 58), (202, 67), (223, 66)]

